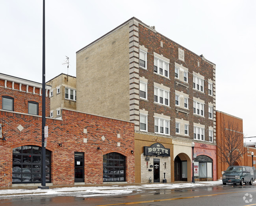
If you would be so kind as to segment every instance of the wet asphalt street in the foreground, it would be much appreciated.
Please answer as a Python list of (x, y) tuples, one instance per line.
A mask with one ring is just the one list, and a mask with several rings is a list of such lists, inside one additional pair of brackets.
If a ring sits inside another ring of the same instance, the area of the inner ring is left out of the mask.
[(216, 185), (177, 189), (138, 189), (130, 194), (83, 197), (82, 191), (67, 192), (61, 196), (31, 195), (0, 199), (0, 205), (9, 206), (110, 206), (110, 205), (256, 205), (256, 185)]

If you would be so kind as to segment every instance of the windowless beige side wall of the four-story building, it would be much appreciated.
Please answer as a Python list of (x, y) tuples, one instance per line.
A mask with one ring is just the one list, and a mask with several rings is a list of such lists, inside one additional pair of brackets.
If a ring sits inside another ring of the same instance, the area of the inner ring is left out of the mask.
[(129, 23), (76, 54), (76, 80), (78, 111), (130, 121)]

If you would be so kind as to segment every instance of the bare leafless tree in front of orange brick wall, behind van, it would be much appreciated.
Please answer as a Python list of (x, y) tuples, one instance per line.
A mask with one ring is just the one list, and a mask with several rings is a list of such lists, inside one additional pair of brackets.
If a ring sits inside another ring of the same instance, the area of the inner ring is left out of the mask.
[(217, 150), (221, 162), (234, 165), (246, 153), (243, 144), (243, 131), (234, 121), (223, 121), (218, 134)]

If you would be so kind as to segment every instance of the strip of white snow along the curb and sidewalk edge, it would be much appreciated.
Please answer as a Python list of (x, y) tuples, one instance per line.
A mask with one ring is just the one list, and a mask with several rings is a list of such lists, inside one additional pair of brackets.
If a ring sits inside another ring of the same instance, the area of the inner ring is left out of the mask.
[(175, 184), (127, 184), (127, 186), (111, 185), (111, 186), (92, 186), (92, 187), (63, 187), (63, 188), (51, 188), (51, 189), (0, 189), (0, 199), (6, 197), (19, 197), (29, 195), (67, 195), (72, 193), (72, 196), (77, 197), (93, 197), (93, 196), (105, 196), (105, 195), (120, 195), (128, 194), (133, 191), (143, 191), (143, 189), (175, 189), (175, 188), (189, 188), (194, 186), (212, 186), (222, 184), (222, 181), (208, 181), (208, 182), (196, 182), (196, 183), (175, 183)]

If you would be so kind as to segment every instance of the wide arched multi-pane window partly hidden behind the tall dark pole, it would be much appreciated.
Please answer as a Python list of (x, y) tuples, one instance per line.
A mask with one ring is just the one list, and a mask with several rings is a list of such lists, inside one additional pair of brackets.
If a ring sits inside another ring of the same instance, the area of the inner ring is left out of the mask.
[[(50, 182), (50, 151), (46, 150), (46, 182)], [(13, 149), (13, 184), (41, 183), (41, 147), (25, 145)]]

